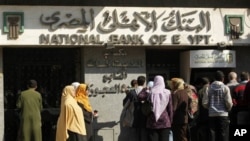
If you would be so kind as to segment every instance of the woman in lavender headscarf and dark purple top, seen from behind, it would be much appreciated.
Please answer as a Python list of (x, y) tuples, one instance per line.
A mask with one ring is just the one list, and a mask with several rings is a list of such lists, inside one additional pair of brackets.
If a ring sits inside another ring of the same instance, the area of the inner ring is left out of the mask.
[(149, 141), (169, 141), (173, 108), (170, 90), (165, 88), (164, 78), (154, 77), (154, 84), (150, 91), (152, 113), (147, 119)]

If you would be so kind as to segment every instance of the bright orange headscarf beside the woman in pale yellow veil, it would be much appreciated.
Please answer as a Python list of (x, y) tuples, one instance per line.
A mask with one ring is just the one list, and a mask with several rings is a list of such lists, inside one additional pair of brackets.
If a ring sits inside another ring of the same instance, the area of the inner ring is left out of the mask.
[(92, 112), (92, 107), (89, 103), (89, 97), (88, 97), (86, 84), (80, 84), (78, 88), (76, 89), (76, 100), (77, 102), (83, 104), (84, 109), (86, 109), (88, 112)]

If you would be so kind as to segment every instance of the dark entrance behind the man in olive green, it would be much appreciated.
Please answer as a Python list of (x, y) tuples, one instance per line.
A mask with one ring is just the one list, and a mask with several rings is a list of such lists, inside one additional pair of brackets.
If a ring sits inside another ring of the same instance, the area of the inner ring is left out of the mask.
[(16, 99), (26, 82), (35, 79), (43, 97), (43, 140), (54, 141), (53, 126), (59, 114), (61, 91), (76, 81), (79, 48), (4, 48), (5, 140), (16, 141)]

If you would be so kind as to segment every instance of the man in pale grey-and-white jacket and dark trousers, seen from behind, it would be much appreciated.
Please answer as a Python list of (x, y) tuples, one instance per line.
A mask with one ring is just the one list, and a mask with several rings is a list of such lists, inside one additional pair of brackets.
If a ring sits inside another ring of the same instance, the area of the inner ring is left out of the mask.
[(211, 141), (228, 141), (229, 120), (228, 112), (232, 108), (230, 89), (224, 83), (224, 73), (217, 71), (215, 81), (208, 87), (203, 96), (202, 104), (208, 108)]

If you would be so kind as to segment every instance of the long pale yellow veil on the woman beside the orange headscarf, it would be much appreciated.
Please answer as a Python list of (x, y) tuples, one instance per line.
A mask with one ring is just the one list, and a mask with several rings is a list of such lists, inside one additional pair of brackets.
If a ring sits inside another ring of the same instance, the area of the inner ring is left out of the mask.
[(83, 112), (74, 99), (74, 95), (74, 86), (64, 87), (60, 115), (57, 121), (56, 141), (66, 141), (69, 137), (68, 130), (86, 135)]

